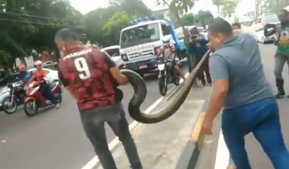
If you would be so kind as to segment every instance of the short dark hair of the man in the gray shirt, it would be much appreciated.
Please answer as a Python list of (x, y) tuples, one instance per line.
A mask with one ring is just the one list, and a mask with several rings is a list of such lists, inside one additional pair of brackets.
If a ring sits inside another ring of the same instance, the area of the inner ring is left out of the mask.
[(214, 35), (218, 33), (225, 36), (233, 35), (233, 29), (229, 22), (221, 18), (214, 20), (214, 22), (209, 25), (208, 31), (212, 32)]

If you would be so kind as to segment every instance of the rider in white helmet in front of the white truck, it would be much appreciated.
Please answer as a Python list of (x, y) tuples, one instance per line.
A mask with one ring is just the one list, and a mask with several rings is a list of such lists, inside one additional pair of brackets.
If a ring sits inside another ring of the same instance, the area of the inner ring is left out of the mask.
[(186, 77), (182, 70), (179, 68), (176, 61), (175, 47), (174, 44), (171, 43), (171, 38), (166, 36), (162, 39), (163, 46), (158, 49), (157, 57), (164, 57), (165, 60), (171, 61), (172, 66), (176, 70), (177, 74), (185, 81)]

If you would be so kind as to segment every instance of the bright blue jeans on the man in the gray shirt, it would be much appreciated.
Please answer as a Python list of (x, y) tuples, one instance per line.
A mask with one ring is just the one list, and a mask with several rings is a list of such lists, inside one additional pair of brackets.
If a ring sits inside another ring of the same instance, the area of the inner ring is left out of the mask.
[(284, 144), (275, 99), (225, 109), (222, 114), (224, 140), (237, 169), (251, 169), (244, 136), (253, 132), (275, 169), (289, 169), (289, 153)]

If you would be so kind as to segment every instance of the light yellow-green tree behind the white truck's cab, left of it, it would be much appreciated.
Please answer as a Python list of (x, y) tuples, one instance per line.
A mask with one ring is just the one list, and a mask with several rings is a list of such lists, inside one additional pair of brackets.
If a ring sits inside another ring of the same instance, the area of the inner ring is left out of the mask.
[(110, 0), (109, 3), (109, 7), (84, 16), (86, 40), (101, 46), (119, 44), (121, 29), (128, 26), (130, 19), (151, 15), (151, 10), (140, 0)]

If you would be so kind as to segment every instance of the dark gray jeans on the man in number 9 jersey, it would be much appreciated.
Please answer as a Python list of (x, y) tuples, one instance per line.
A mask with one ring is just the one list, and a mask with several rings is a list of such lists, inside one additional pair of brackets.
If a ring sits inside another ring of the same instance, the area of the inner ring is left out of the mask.
[(80, 117), (85, 133), (92, 143), (103, 169), (117, 169), (112, 153), (108, 149), (104, 128), (105, 122), (108, 123), (114, 134), (123, 143), (131, 168), (142, 169), (136, 144), (129, 132), (121, 103), (85, 110), (80, 113)]

